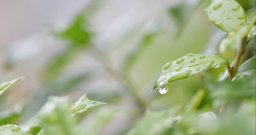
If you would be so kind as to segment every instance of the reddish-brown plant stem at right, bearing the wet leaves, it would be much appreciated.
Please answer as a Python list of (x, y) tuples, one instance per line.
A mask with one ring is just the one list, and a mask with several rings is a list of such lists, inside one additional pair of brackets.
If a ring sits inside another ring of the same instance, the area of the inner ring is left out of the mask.
[[(245, 40), (247, 39), (247, 36), (244, 37), (241, 46), (238, 48), (237, 53), (236, 53), (236, 60), (235, 63), (233, 64), (233, 66), (230, 69), (230, 66), (226, 65), (228, 68), (228, 81), (231, 82), (231, 80), (234, 78), (234, 76), (236, 75), (236, 69), (238, 68), (239, 65), (239, 61), (241, 60), (242, 55), (245, 52), (245, 47), (246, 45), (244, 44)], [(222, 106), (220, 107), (220, 114), (223, 113), (223, 111), (225, 110), (226, 106), (227, 106), (228, 102), (224, 101), (222, 103)]]

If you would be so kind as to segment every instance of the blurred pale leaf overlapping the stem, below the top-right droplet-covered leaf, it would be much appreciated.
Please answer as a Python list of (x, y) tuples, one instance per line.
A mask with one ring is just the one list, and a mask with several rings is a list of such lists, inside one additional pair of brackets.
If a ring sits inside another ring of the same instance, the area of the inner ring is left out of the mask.
[(250, 27), (245, 26), (243, 28), (239, 28), (236, 32), (231, 33), (226, 38), (224, 38), (219, 45), (219, 50), (221, 53), (231, 52), (234, 53), (233, 50), (237, 50), (244, 39), (249, 33)]

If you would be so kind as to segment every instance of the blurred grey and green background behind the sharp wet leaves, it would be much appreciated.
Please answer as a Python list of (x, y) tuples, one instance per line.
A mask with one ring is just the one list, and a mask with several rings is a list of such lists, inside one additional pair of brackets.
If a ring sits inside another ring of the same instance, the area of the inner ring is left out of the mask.
[[(166, 95), (149, 91), (166, 62), (190, 52), (233, 60), (235, 49), (218, 50), (227, 34), (209, 22), (203, 10), (208, 4), (200, 0), (1, 0), (0, 83), (19, 76), (25, 79), (1, 96), (0, 111), (9, 113), (0, 118), (23, 123), (50, 95), (68, 95), (74, 102), (87, 92), (88, 98), (108, 104), (81, 116), (84, 127), (94, 127), (92, 134), (122, 134), (145, 108), (187, 104), (204, 87), (201, 75), (172, 83)], [(255, 1), (240, 4), (249, 18), (254, 16)], [(255, 44), (255, 38), (250, 44)], [(246, 54), (255, 55), (255, 45), (248, 48), (251, 52)], [(207, 74), (219, 77), (224, 68)]]

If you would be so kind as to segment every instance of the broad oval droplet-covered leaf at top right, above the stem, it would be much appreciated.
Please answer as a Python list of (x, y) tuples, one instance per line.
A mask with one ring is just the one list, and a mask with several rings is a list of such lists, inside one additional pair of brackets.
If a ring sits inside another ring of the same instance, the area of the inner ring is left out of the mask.
[(212, 0), (205, 10), (209, 20), (224, 32), (246, 25), (244, 9), (235, 0)]

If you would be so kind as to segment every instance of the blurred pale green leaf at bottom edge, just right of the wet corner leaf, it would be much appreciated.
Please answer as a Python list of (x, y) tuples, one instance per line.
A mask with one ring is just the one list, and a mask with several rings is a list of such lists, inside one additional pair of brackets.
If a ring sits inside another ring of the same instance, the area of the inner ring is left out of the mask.
[(42, 129), (42, 122), (36, 116), (29, 120), (28, 123), (21, 125), (20, 128), (29, 135), (36, 135)]

